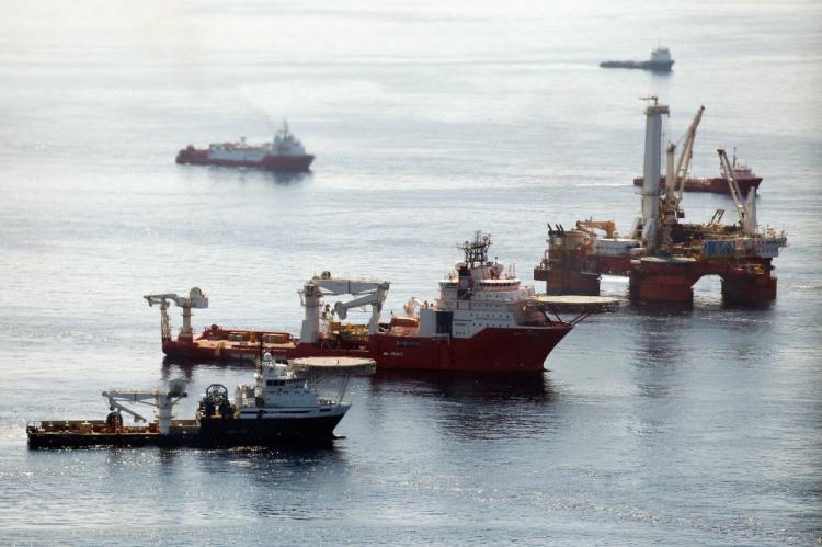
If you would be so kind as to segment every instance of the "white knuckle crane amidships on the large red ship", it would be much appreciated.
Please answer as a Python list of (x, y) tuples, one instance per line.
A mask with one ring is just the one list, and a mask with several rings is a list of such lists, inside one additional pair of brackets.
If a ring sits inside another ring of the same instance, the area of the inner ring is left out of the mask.
[(340, 319), (347, 317), (350, 308), (372, 306), (372, 318), (368, 321), (368, 333), (376, 334), (379, 329), (379, 314), (386, 299), (390, 284), (387, 281), (377, 280), (347, 280), (332, 277), (330, 272), (322, 272), (320, 276), (313, 276), (302, 286), (299, 292), (302, 306), (306, 307), (306, 318), (302, 320), (300, 341), (313, 343), (320, 333), (320, 312), (322, 309), (322, 297), (327, 295), (352, 295), (357, 296), (347, 303), (336, 303), (333, 311)]

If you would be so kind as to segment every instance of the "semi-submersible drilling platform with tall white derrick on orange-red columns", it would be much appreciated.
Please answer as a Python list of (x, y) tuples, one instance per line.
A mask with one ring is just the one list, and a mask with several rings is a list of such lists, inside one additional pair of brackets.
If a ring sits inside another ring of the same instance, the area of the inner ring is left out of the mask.
[(548, 249), (534, 270), (553, 295), (598, 295), (602, 274), (630, 280), (630, 295), (648, 304), (693, 301), (693, 285), (704, 275), (719, 275), (727, 303), (761, 306), (776, 298), (772, 260), (787, 247), (787, 236), (756, 224), (754, 192), (743, 196), (723, 149), (719, 149), (722, 174), (728, 179), (738, 221), (721, 224), (718, 209), (704, 224), (685, 224), (682, 208), (684, 183), (693, 156), (696, 129), (705, 110), (694, 117), (675, 162), (676, 145), (666, 148), (665, 185), (660, 189), (662, 116), (666, 105), (647, 99), (644, 183), (642, 216), (626, 237), (619, 237), (613, 220), (580, 220), (572, 229), (548, 225)]

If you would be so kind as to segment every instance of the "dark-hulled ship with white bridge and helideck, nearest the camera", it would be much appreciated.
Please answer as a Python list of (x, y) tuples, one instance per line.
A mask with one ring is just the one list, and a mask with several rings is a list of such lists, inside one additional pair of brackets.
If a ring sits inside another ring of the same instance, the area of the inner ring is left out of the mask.
[[(329, 371), (342, 372), (333, 395), (317, 391)], [(334, 438), (334, 428), (351, 408), (343, 402), (352, 371), (374, 372), (374, 362), (354, 358), (304, 360), (296, 369), (263, 356), (254, 384), (238, 386), (233, 403), (221, 384), (208, 386), (192, 420), (173, 419), (172, 408), (186, 397), (184, 384), (172, 381), (162, 390), (103, 391), (110, 413), (105, 420), (50, 420), (28, 422), (31, 448), (79, 446), (273, 446), (322, 445)], [(123, 412), (146, 422), (124, 403), (155, 407), (156, 420), (146, 425), (124, 425)]]

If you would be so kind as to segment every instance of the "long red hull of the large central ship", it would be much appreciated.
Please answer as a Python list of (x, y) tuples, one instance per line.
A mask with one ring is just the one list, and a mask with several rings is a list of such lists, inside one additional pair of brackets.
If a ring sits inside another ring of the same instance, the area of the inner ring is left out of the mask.
[(367, 346), (321, 341), (315, 344), (213, 344), (197, 340), (163, 340), (169, 357), (204, 362), (254, 361), (264, 350), (275, 357), (365, 357), (378, 368), (476, 372), (538, 372), (553, 347), (573, 327), (484, 329), (470, 339), (370, 335)]

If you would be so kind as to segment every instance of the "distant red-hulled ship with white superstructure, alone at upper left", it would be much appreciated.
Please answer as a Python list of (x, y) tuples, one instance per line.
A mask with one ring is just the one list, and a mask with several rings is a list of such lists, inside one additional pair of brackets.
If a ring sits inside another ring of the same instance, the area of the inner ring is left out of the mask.
[(288, 130), (288, 124), (271, 143), (249, 145), (246, 137), (239, 143), (214, 143), (207, 149), (189, 145), (176, 155), (176, 162), (194, 166), (224, 166), (267, 169), (270, 171), (308, 171), (313, 156)]

